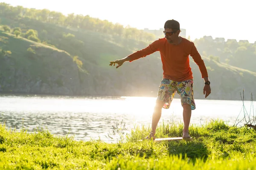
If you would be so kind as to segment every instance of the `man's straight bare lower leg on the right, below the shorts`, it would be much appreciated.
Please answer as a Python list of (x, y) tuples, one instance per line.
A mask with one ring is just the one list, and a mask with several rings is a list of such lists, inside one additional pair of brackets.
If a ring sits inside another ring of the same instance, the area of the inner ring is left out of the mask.
[(183, 121), (184, 121), (184, 128), (183, 128), (183, 138), (190, 138), (189, 136), (189, 123), (191, 118), (191, 105), (183, 104)]

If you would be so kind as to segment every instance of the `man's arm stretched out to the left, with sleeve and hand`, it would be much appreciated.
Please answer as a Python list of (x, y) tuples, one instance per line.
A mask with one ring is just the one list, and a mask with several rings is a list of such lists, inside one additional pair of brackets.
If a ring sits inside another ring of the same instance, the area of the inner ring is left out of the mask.
[(159, 51), (159, 40), (154, 41), (150, 45), (148, 45), (146, 48), (136, 51), (133, 54), (128, 55), (127, 57), (123, 59), (117, 59), (116, 61), (110, 61), (110, 66), (115, 66), (115, 64), (118, 64), (116, 68), (119, 68), (124, 62), (129, 61), (132, 62), (136, 59), (140, 59), (142, 57), (146, 57), (149, 54), (154, 53), (155, 51)]

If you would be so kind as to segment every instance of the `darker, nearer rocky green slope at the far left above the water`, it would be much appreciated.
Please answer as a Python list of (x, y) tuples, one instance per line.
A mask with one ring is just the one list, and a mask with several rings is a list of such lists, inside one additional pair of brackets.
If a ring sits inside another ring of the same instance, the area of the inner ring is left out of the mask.
[(79, 70), (70, 54), (2, 31), (0, 39), (2, 48), (12, 53), (0, 56), (2, 92), (72, 93), (73, 82), (79, 81), (78, 72), (83, 70)]

